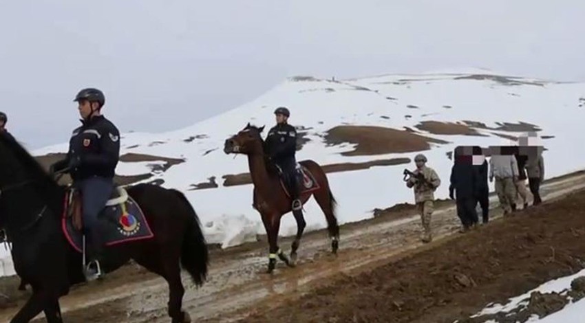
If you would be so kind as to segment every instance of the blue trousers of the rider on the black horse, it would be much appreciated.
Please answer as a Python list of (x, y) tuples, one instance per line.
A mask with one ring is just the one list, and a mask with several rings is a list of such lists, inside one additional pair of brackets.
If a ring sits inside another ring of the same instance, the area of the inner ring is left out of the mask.
[(103, 234), (98, 223), (98, 214), (105, 208), (105, 203), (114, 190), (114, 179), (105, 177), (90, 177), (76, 183), (81, 190), (83, 203), (83, 229), (89, 233), (93, 251), (101, 254), (103, 248)]

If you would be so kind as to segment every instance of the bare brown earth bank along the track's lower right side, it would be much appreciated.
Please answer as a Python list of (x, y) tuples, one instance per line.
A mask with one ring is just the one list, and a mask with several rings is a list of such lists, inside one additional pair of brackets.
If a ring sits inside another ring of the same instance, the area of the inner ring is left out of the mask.
[(582, 190), (357, 276), (341, 274), (241, 322), (475, 322), (469, 316), (489, 302), (581, 270), (584, 238)]

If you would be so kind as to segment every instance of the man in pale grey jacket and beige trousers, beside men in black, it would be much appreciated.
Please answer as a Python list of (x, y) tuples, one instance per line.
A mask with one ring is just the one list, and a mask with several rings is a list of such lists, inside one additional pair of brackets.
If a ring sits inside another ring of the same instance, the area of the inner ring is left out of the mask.
[(516, 210), (514, 183), (518, 181), (518, 161), (511, 146), (498, 147), (494, 150), (489, 159), (489, 181), (492, 182), (496, 177), (496, 193), (505, 216)]

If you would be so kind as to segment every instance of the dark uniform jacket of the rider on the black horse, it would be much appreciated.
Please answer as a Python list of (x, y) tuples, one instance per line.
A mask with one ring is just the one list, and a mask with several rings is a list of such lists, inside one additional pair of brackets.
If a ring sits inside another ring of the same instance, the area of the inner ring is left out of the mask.
[(113, 178), (120, 159), (120, 133), (103, 115), (81, 120), (69, 142), (67, 157), (54, 164), (53, 170), (70, 167), (74, 181), (89, 177)]

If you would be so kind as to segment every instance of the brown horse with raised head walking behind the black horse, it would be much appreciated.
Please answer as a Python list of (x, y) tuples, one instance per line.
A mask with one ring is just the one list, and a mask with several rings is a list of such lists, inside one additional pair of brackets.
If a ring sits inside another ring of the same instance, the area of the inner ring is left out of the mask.
[[(297, 260), (297, 249), (301, 243), (301, 236), (305, 229), (306, 223), (301, 212), (293, 212), (297, 221), (297, 236), (292, 242), (290, 250), (290, 259), (278, 247), (278, 231), (280, 228), (281, 217), (292, 210), (292, 200), (288, 192), (281, 183), (275, 165), (269, 161), (264, 153), (264, 140), (261, 133), (264, 126), (257, 128), (248, 125), (237, 135), (226, 140), (224, 153), (248, 155), (248, 166), (252, 182), (254, 184), (253, 207), (262, 216), (262, 223), (268, 234), (268, 243), (270, 245), (270, 255), (268, 261), (268, 273), (272, 273), (276, 265), (276, 256), (286, 263), (289, 267), (294, 267)], [(304, 160), (299, 164), (310, 172), (315, 179), (317, 189), (312, 191), (301, 191), (301, 202), (304, 204), (311, 196), (319, 203), (321, 210), (325, 214), (329, 237), (331, 238), (331, 249), (333, 254), (337, 254), (339, 248), (339, 226), (334, 214), (335, 199), (331, 193), (329, 182), (323, 168), (315, 161)]]

